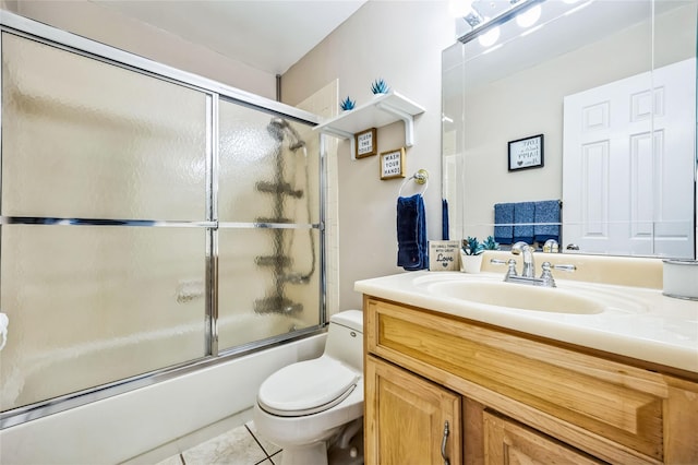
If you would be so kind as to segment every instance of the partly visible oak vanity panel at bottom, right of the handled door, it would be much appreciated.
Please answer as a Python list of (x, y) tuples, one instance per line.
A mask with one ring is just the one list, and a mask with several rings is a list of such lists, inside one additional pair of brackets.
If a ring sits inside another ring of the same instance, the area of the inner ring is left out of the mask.
[(484, 413), (483, 420), (485, 465), (605, 463), (490, 412)]

